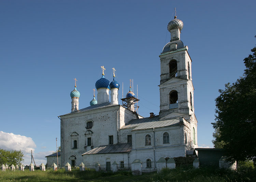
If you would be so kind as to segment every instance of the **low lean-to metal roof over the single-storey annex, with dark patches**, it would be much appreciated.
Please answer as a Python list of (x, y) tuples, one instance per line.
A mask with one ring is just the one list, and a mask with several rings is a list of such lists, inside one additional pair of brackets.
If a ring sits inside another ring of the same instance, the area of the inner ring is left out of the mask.
[(105, 154), (105, 153), (124, 153), (124, 152), (130, 152), (131, 148), (132, 148), (131, 143), (119, 143), (119, 144), (97, 147), (88, 152), (85, 152), (82, 155)]

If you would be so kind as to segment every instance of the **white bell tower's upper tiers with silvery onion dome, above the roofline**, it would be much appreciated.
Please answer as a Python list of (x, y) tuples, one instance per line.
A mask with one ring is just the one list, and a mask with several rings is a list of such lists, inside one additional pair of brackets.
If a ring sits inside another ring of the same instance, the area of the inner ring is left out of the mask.
[[(188, 47), (180, 40), (183, 22), (174, 17), (169, 22), (171, 40), (160, 54), (160, 112), (161, 119), (194, 115), (194, 87)], [(186, 117), (185, 117), (186, 116)]]

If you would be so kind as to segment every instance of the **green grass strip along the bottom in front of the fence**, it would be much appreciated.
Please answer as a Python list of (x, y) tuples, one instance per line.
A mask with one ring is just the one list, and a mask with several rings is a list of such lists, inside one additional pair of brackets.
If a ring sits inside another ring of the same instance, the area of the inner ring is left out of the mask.
[(132, 176), (131, 172), (96, 171), (0, 171), (0, 182), (254, 182), (256, 169), (230, 171), (214, 168), (163, 169), (160, 173), (143, 173)]

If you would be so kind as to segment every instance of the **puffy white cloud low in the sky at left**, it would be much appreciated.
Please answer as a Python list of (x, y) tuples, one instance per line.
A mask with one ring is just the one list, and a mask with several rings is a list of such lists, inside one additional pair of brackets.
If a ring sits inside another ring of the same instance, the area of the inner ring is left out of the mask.
[(24, 153), (30, 153), (37, 146), (30, 137), (5, 133), (0, 131), (0, 148), (5, 150), (21, 150)]

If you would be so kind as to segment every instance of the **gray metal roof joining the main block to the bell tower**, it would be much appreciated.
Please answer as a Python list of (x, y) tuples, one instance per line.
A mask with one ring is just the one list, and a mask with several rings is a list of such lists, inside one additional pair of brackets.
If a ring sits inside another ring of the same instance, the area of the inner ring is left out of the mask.
[(133, 128), (134, 130), (145, 130), (150, 128), (158, 128), (164, 126), (172, 126), (179, 124), (180, 120), (178, 119), (169, 119), (159, 121), (159, 116), (153, 118), (141, 118), (141, 119), (132, 119), (129, 123), (123, 126), (121, 129)]

